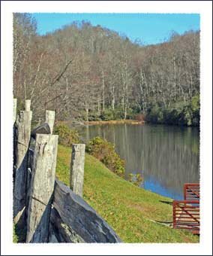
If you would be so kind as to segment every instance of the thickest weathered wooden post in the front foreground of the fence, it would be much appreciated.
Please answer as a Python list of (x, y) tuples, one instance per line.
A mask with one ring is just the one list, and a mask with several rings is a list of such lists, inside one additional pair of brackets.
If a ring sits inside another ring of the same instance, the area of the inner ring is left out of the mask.
[(26, 242), (48, 242), (57, 148), (57, 135), (36, 135)]

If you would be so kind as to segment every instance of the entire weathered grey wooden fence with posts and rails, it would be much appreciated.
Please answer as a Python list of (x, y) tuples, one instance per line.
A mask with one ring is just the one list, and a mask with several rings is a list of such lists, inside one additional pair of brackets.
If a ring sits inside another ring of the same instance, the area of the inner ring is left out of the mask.
[(31, 131), (30, 100), (16, 116), (13, 104), (13, 221), (22, 242), (121, 242), (83, 200), (85, 145), (72, 146), (70, 187), (55, 179), (55, 112)]

